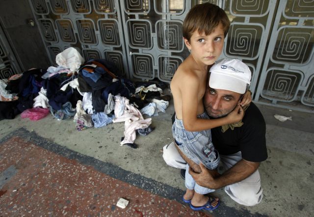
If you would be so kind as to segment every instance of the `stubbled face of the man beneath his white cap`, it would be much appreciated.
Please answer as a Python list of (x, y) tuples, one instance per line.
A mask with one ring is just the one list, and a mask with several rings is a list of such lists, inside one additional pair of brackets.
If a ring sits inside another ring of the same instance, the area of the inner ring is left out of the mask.
[(229, 114), (240, 101), (241, 94), (230, 90), (212, 89), (209, 86), (204, 96), (204, 106), (210, 117)]

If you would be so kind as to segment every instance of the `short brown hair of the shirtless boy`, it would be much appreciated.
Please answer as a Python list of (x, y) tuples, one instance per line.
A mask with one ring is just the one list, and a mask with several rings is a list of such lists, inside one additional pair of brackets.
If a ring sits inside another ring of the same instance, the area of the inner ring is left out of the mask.
[(190, 41), (194, 31), (209, 35), (222, 24), (225, 37), (230, 27), (230, 21), (226, 12), (211, 3), (197, 4), (191, 8), (183, 21), (183, 37)]

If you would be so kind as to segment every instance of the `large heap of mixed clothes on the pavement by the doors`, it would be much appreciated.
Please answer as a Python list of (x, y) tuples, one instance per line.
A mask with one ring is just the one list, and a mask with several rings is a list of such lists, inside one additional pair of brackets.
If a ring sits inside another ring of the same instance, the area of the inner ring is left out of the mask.
[(125, 122), (120, 144), (136, 148), (136, 134), (146, 136), (154, 130), (152, 119), (143, 114), (156, 116), (169, 106), (170, 96), (162, 95), (165, 83), (133, 83), (105, 59), (84, 62), (69, 48), (56, 62), (57, 67), (34, 68), (0, 80), (0, 120), (21, 113), (36, 121), (51, 113), (57, 120), (73, 118), (78, 131)]

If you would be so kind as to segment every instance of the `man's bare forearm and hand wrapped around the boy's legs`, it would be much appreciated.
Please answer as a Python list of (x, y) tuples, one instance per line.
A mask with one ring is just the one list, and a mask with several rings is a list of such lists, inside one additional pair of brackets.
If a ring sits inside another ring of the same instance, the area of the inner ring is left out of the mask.
[(220, 175), (216, 170), (209, 170), (200, 163), (201, 173), (196, 173), (191, 168), (189, 173), (200, 186), (208, 189), (220, 189), (249, 177), (257, 170), (259, 165), (258, 162), (249, 162), (242, 159)]

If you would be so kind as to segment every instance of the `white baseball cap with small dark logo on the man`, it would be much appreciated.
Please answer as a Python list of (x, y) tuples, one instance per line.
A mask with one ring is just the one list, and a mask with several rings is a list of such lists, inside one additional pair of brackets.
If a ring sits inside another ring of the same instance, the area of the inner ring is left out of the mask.
[(243, 94), (251, 84), (249, 67), (238, 59), (220, 59), (209, 69), (209, 86)]

